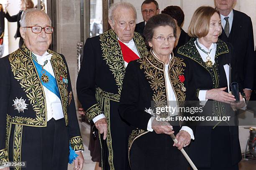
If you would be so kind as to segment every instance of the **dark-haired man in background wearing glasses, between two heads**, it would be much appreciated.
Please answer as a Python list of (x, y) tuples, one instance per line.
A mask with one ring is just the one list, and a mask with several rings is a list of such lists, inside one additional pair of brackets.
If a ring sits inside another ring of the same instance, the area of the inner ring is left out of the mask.
[(159, 14), (159, 5), (155, 0), (144, 0), (141, 5), (141, 14), (143, 21), (136, 24), (135, 32), (143, 35), (144, 27), (149, 18)]

